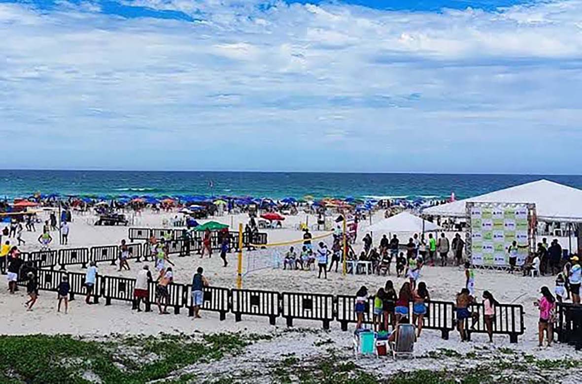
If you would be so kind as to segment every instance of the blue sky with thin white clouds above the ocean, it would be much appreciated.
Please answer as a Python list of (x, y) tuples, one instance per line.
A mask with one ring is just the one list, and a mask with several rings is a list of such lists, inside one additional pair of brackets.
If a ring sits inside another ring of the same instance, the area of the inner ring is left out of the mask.
[(0, 0), (0, 168), (580, 174), (581, 20), (582, 0)]

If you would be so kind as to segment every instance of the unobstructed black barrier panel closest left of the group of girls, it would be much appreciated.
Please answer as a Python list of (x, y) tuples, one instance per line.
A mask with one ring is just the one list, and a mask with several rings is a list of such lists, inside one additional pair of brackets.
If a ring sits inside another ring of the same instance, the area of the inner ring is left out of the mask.
[(308, 319), (322, 321), (324, 329), (329, 329), (333, 320), (333, 296), (319, 293), (283, 292), (282, 316), (287, 320), (287, 326), (293, 326), (293, 319)]

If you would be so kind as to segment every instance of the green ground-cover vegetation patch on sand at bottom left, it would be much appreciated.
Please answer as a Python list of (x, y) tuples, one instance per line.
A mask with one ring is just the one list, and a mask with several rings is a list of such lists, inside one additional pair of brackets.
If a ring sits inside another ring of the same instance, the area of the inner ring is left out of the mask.
[[(237, 353), (258, 338), (232, 333), (113, 336), (106, 341), (65, 335), (0, 336), (0, 383), (141, 384), (195, 362)], [(187, 382), (183, 379), (176, 382)]]

